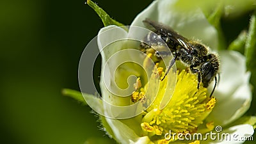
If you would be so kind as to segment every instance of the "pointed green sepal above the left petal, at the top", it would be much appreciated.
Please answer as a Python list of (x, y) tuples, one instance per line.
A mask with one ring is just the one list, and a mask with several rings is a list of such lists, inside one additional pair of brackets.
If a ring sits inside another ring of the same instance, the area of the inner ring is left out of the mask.
[(97, 4), (95, 4), (93, 1), (87, 0), (87, 3), (97, 14), (99, 15), (100, 19), (102, 20), (104, 26), (109, 26), (109, 25), (116, 25), (116, 26), (124, 26), (124, 24), (111, 19), (111, 17), (106, 13), (102, 8), (100, 8)]

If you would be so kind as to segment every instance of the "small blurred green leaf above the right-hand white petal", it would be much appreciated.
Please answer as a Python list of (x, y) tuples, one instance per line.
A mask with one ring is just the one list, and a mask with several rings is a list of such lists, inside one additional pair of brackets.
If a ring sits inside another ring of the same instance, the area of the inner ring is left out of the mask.
[(241, 31), (239, 36), (237, 36), (236, 40), (234, 40), (233, 42), (231, 42), (230, 45), (228, 45), (228, 50), (238, 51), (241, 54), (244, 54), (246, 38), (247, 38), (247, 32)]

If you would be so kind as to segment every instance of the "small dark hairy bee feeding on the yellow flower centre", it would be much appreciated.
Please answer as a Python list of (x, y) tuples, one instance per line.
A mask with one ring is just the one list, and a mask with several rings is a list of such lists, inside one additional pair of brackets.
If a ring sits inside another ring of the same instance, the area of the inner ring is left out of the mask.
[[(200, 87), (201, 82), (203, 83), (203, 86), (207, 88), (211, 81), (215, 79), (214, 88), (210, 95), (211, 97), (217, 84), (216, 75), (219, 74), (220, 70), (220, 60), (218, 55), (210, 52), (209, 48), (205, 45), (184, 38), (184, 36), (179, 35), (168, 26), (164, 26), (163, 24), (159, 24), (150, 19), (143, 20), (143, 23), (154, 33), (148, 33), (145, 37), (145, 42), (141, 42), (141, 47), (144, 50), (147, 50), (151, 47), (161, 45), (161, 43), (157, 42), (157, 36), (160, 36), (173, 54), (173, 59), (170, 61), (170, 65), (167, 68), (164, 77), (166, 77), (175, 61), (179, 60), (184, 63), (184, 65), (188, 66), (193, 74), (197, 74), (197, 88)], [(155, 55), (157, 58), (161, 58), (161, 56), (170, 55), (170, 51), (156, 51)], [(162, 81), (164, 77), (161, 79)]]

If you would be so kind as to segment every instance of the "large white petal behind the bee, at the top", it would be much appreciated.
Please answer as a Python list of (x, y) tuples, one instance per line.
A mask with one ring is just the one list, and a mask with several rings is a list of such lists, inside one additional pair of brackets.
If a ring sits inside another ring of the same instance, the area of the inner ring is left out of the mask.
[(199, 9), (182, 13), (174, 8), (176, 2), (169, 0), (154, 1), (148, 8), (137, 15), (131, 25), (145, 27), (142, 21), (146, 18), (156, 20), (170, 26), (180, 35), (202, 40), (211, 49), (217, 49), (218, 33), (209, 24), (204, 13)]

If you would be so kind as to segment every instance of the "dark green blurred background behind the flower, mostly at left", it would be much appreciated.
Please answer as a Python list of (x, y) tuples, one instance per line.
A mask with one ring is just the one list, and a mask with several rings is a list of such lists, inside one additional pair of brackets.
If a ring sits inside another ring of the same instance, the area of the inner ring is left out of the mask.
[[(129, 25), (151, 1), (97, 3)], [(250, 17), (238, 19), (223, 21), (227, 42), (248, 27)], [(236, 28), (230, 26), (234, 22)], [(62, 88), (79, 90), (79, 58), (102, 27), (84, 1), (0, 2), (0, 143), (80, 144), (108, 138), (90, 108), (61, 95)]]

